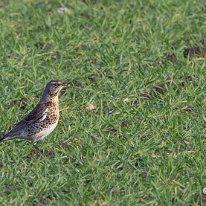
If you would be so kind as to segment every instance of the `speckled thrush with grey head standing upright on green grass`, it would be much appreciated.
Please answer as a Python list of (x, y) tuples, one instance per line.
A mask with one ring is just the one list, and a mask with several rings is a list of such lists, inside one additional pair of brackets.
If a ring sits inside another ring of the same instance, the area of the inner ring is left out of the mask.
[(36, 143), (48, 136), (58, 124), (59, 93), (67, 86), (67, 83), (59, 80), (49, 81), (36, 107), (0, 138), (0, 142), (17, 138), (29, 140), (39, 150)]

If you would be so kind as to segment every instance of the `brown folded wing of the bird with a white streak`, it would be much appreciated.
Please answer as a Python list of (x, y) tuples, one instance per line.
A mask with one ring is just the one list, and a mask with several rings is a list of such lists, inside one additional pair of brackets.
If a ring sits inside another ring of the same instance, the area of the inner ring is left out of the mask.
[(32, 124), (34, 122), (42, 122), (48, 112), (48, 107), (46, 104), (37, 104), (37, 106), (20, 122), (15, 125), (15, 128)]

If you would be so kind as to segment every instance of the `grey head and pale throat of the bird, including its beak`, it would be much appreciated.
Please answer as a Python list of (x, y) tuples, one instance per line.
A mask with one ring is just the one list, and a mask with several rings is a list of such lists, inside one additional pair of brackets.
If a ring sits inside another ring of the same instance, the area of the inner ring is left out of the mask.
[(59, 92), (66, 88), (68, 84), (59, 81), (59, 80), (51, 80), (47, 83), (42, 98), (41, 98), (41, 102), (49, 102), (51, 100), (56, 100), (58, 101), (58, 94)]

